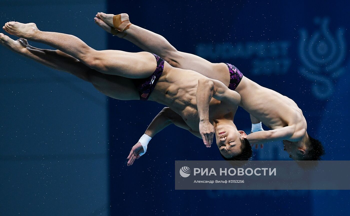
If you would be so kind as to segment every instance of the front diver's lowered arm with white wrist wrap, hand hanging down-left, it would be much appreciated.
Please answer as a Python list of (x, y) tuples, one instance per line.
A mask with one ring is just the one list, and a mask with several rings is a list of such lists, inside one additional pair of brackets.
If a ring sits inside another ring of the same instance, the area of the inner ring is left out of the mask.
[(129, 159), (127, 166), (133, 165), (135, 159), (140, 158), (140, 156), (146, 152), (145, 150), (147, 150), (147, 144), (155, 134), (171, 124), (175, 124), (178, 127), (188, 130), (195, 136), (200, 137), (198, 133), (191, 130), (191, 128), (179, 114), (174, 112), (169, 107), (164, 107), (162, 111), (160, 111), (152, 120), (151, 124), (149, 124), (145, 134), (141, 137), (139, 142), (132, 147), (129, 156), (127, 157), (127, 159)]

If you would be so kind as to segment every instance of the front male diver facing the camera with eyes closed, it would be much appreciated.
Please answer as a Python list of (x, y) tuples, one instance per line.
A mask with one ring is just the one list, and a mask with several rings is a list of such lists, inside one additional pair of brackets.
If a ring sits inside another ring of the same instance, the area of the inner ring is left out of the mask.
[[(251, 157), (251, 146), (245, 139), (247, 135), (233, 124), (240, 96), (222, 82), (192, 70), (174, 68), (152, 53), (94, 50), (76, 36), (43, 32), (35, 23), (7, 22), (3, 29), (21, 37), (14, 41), (0, 33), (0, 43), (10, 50), (76, 75), (112, 98), (153, 100), (164, 104), (174, 112), (174, 124), (202, 138), (207, 146), (214, 140), (214, 134), (220, 137), (225, 132), (226, 159), (248, 160)], [(26, 39), (58, 50), (31, 47)], [(138, 149), (139, 153), (145, 152), (146, 146), (140, 144)], [(137, 156), (128, 157), (128, 166)]]

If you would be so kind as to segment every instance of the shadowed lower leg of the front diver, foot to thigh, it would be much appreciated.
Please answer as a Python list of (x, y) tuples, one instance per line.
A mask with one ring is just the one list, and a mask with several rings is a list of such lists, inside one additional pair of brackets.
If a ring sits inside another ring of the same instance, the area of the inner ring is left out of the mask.
[(41, 63), (47, 67), (68, 72), (87, 82), (105, 95), (121, 100), (138, 100), (139, 93), (129, 78), (102, 74), (87, 67), (76, 58), (59, 50), (38, 49), (26, 39), (12, 40), (0, 33), (0, 44), (9, 50)]

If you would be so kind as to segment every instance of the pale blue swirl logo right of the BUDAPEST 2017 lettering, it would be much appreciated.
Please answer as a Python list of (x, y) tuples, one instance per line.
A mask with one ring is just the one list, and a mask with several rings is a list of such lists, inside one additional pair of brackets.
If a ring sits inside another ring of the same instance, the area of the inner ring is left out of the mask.
[(314, 95), (319, 99), (327, 99), (333, 92), (332, 80), (345, 71), (341, 67), (346, 49), (344, 29), (339, 28), (334, 37), (328, 28), (328, 18), (316, 18), (315, 23), (320, 25), (320, 30), (309, 39), (307, 31), (301, 30), (299, 53), (304, 67), (300, 68), (300, 72), (315, 82), (312, 86)]

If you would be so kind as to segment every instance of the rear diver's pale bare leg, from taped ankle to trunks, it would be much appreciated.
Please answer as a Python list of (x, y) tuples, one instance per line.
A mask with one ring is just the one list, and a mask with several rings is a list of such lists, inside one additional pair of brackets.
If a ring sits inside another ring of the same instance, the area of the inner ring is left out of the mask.
[[(113, 17), (113, 14), (98, 13), (94, 20), (97, 25), (111, 33)], [(120, 19), (121, 21), (128, 20), (129, 15), (120, 14)], [(194, 70), (209, 78), (218, 79), (227, 85), (230, 82), (229, 70), (226, 64), (211, 63), (199, 56), (180, 52), (165, 37), (147, 29), (131, 25), (117, 36), (132, 42), (142, 50), (159, 55), (173, 67)]]

